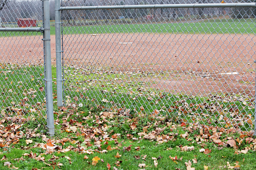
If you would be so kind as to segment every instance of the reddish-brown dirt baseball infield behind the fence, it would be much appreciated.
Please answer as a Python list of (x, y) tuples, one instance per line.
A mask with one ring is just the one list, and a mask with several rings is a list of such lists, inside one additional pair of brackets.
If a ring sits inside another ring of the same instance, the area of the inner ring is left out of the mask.
[[(0, 42), (1, 62), (42, 63), (40, 37), (6, 37)], [(64, 64), (144, 73), (148, 76), (134, 80), (177, 93), (254, 95), (255, 42), (254, 35), (229, 34), (64, 35)], [(55, 36), (51, 54), (54, 64)]]

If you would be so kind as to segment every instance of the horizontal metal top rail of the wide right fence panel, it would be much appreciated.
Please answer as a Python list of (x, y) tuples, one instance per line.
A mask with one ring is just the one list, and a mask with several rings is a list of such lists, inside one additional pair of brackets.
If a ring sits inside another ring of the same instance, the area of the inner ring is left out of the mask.
[(81, 7), (60, 7), (65, 10), (111, 10), (111, 9), (160, 9), (160, 8), (256, 8), (256, 3), (217, 3), (217, 4), (156, 4), (156, 5), (125, 5), (125, 6), (81, 6)]

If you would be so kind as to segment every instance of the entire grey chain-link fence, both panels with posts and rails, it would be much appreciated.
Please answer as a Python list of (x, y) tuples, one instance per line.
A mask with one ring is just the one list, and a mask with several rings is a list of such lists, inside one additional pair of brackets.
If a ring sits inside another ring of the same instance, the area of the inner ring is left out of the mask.
[(58, 106), (94, 103), (123, 116), (254, 129), (255, 3), (6, 2), (2, 119), (44, 123), (47, 112), (53, 135), (51, 19)]

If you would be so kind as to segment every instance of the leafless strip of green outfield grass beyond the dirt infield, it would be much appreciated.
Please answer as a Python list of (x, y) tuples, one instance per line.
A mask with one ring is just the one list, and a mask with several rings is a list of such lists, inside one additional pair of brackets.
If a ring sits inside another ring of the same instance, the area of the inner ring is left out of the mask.
[[(99, 24), (92, 26), (63, 27), (63, 34), (106, 33), (183, 33), (183, 34), (255, 34), (255, 19), (205, 19), (199, 22), (159, 24)], [(0, 32), (0, 36), (31, 36), (41, 33)], [(55, 35), (55, 27), (51, 27)]]

